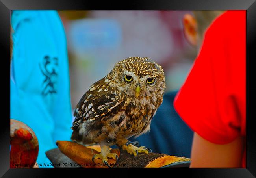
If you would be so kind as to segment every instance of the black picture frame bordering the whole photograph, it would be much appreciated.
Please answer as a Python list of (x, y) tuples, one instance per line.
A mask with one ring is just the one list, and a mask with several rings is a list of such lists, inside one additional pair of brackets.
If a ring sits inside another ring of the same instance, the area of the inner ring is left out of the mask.
[[(86, 10), (86, 9), (147, 9), (147, 10), (246, 10), (247, 11), (247, 34), (246, 34), (246, 59), (247, 59), (247, 90), (246, 90), (246, 168), (239, 169), (168, 169), (167, 175), (173, 176), (176, 173), (183, 176), (195, 177), (255, 177), (256, 176), (256, 129), (254, 119), (254, 101), (256, 101), (256, 87), (253, 85), (255, 80), (255, 67), (253, 62), (256, 59), (256, 2), (255, 0), (131, 0), (131, 1), (86, 1), (86, 0), (0, 0), (0, 46), (2, 49), (2, 119), (0, 134), (0, 176), (3, 177), (38, 177), (52, 175), (52, 171), (59, 169), (10, 169), (9, 168), (9, 24), (10, 10), (16, 9), (58, 9), (58, 10)], [(115, 4), (115, 6), (113, 6)], [(4, 70), (3, 70), (4, 69)], [(61, 169), (65, 173), (67, 169)], [(65, 171), (64, 171), (65, 170)], [(88, 169), (89, 170), (89, 169)], [(158, 169), (157, 171), (159, 171)], [(161, 171), (167, 169), (161, 169)], [(79, 173), (84, 173), (84, 169), (76, 169)], [(83, 172), (80, 172), (83, 171)], [(95, 171), (94, 172), (101, 172)], [(125, 171), (113, 172), (109, 170), (109, 177), (122, 176)], [(129, 169), (130, 176), (134, 169)], [(60, 172), (60, 171), (58, 171)], [(145, 172), (145, 171), (142, 171)], [(142, 173), (141, 172), (141, 173)], [(147, 170), (151, 172), (151, 170)], [(78, 172), (76, 172), (78, 174)], [(86, 172), (89, 175), (88, 172)], [(75, 174), (74, 174), (75, 175)], [(100, 174), (99, 174), (100, 175)], [(161, 175), (161, 174), (160, 174)], [(84, 175), (85, 176), (85, 175)], [(106, 175), (105, 175), (106, 176)]]

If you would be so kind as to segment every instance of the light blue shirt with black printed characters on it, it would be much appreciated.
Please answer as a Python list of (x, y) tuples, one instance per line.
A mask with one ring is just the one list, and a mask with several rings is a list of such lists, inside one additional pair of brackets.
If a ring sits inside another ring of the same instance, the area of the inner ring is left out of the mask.
[(45, 152), (72, 134), (66, 36), (56, 11), (13, 11), (11, 25), (10, 118), (33, 129), (44, 167)]

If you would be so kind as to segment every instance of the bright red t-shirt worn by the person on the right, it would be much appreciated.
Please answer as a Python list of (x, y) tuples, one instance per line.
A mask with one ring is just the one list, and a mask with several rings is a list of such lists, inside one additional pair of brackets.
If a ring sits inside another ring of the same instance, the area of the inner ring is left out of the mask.
[(200, 53), (174, 100), (186, 124), (212, 143), (245, 137), (245, 63), (246, 11), (226, 11), (206, 30)]

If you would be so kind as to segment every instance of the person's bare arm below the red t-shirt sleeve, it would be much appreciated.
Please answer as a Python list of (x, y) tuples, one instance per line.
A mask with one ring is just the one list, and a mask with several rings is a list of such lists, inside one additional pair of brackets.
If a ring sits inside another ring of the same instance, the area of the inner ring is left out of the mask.
[(190, 168), (241, 167), (244, 139), (237, 137), (228, 144), (211, 143), (194, 133)]

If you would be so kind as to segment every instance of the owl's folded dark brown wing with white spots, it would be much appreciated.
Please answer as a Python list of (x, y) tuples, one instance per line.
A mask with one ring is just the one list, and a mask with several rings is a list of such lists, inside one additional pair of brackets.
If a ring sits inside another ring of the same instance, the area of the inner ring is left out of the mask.
[(76, 105), (73, 127), (78, 126), (84, 121), (93, 121), (104, 117), (124, 100), (124, 95), (119, 93), (100, 80), (94, 83), (83, 95)]

